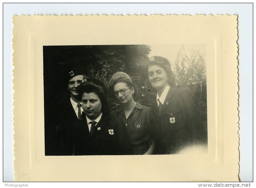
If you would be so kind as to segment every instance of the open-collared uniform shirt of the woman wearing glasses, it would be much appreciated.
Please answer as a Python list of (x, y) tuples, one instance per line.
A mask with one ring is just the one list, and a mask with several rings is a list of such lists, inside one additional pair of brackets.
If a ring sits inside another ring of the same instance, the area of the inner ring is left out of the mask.
[(115, 121), (118, 134), (123, 140), (119, 141), (123, 154), (142, 155), (150, 147), (152, 136), (150, 134), (150, 108), (136, 103), (129, 117), (126, 119), (123, 108), (111, 112), (111, 120)]

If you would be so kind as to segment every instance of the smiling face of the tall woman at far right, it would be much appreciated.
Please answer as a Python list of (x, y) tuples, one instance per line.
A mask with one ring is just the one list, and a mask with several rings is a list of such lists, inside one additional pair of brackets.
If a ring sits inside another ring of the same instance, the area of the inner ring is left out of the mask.
[(168, 76), (165, 70), (158, 65), (152, 65), (148, 68), (148, 79), (151, 86), (157, 91), (165, 89), (168, 84)]

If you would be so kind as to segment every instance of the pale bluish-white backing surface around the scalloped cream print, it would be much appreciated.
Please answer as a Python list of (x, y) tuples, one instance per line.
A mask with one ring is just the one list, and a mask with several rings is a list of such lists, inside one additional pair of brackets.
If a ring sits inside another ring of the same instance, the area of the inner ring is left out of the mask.
[(238, 15), (240, 181), (253, 181), (253, 4), (252, 3), (4, 3), (3, 4), (3, 181), (13, 181), (13, 15)]

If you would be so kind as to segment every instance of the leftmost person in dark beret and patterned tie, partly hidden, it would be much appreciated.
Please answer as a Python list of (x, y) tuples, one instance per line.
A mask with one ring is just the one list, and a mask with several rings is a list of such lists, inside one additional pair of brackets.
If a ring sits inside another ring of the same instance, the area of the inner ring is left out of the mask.
[(81, 118), (83, 109), (76, 88), (88, 78), (85, 74), (82, 67), (73, 67), (64, 73), (64, 85), (70, 97), (49, 110), (52, 113), (45, 124), (45, 155), (72, 155), (69, 128)]

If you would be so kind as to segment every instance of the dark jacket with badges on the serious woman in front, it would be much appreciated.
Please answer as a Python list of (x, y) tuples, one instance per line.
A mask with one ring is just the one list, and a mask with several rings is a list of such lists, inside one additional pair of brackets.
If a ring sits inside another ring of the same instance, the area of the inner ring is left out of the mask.
[(73, 155), (113, 155), (116, 154), (115, 129), (109, 125), (109, 116), (101, 116), (93, 135), (90, 135), (86, 116), (71, 127)]

